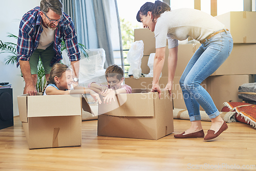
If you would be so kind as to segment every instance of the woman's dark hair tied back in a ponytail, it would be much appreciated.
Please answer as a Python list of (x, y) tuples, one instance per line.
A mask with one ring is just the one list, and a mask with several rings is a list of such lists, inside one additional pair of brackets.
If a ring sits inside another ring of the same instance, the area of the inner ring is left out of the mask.
[(141, 22), (140, 15), (147, 16), (148, 11), (152, 12), (152, 15), (153, 15), (152, 21), (154, 22), (154, 18), (160, 17), (160, 15), (165, 11), (170, 11), (170, 7), (161, 1), (155, 1), (155, 4), (147, 2), (140, 7), (140, 10), (138, 11), (136, 16), (137, 21)]

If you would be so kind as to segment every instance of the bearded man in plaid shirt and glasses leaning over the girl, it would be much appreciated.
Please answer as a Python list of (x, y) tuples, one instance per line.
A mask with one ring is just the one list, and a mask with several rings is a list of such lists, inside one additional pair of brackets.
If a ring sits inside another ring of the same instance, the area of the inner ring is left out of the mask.
[(17, 67), (20, 65), (25, 80), (24, 94), (36, 95), (39, 56), (46, 80), (51, 67), (61, 59), (61, 38), (65, 40), (74, 81), (78, 82), (80, 53), (71, 18), (62, 12), (60, 0), (41, 0), (40, 7), (27, 12), (19, 25)]

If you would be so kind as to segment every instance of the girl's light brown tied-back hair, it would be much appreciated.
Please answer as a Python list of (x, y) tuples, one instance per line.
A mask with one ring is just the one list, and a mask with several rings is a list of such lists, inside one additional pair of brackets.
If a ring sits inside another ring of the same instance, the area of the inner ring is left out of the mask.
[[(72, 70), (69, 66), (64, 65), (62, 63), (55, 63), (51, 69), (49, 79), (47, 80), (46, 87), (49, 84), (55, 84), (54, 77), (60, 78), (63, 72), (67, 70)], [(46, 88), (42, 91), (42, 95), (44, 95)]]

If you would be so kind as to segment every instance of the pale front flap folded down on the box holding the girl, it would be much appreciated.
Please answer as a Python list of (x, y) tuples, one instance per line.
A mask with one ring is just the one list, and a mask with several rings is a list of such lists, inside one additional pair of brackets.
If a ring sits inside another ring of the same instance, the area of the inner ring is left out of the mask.
[(81, 95), (27, 96), (28, 117), (81, 115)]

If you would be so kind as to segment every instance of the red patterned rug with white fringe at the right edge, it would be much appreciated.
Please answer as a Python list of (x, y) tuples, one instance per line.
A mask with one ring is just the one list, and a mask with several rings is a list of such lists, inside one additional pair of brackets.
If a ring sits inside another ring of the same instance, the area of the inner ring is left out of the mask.
[[(247, 123), (256, 129), (256, 105), (243, 102), (224, 102), (229, 111), (236, 112), (236, 120)], [(225, 111), (225, 108), (222, 109)]]

